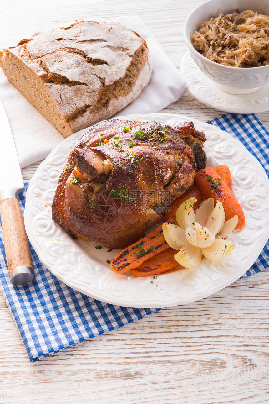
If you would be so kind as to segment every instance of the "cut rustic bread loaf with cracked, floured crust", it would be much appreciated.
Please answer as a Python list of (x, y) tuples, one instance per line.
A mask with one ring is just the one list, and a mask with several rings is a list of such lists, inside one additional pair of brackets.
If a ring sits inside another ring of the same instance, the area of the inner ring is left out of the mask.
[(80, 21), (0, 53), (8, 80), (63, 137), (111, 117), (148, 84), (146, 42), (119, 23)]

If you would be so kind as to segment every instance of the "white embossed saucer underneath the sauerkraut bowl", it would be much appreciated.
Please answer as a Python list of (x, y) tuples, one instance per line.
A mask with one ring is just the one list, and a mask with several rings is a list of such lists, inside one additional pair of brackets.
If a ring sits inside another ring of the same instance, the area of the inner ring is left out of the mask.
[(209, 107), (239, 114), (269, 110), (269, 84), (251, 94), (226, 93), (201, 72), (189, 52), (185, 53), (181, 61), (180, 73), (186, 80), (190, 94)]

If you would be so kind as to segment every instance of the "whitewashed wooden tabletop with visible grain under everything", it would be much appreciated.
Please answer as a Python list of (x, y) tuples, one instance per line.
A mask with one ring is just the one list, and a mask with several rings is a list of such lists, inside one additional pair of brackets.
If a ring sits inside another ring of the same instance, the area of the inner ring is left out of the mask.
[[(73, 3), (73, 4), (72, 4)], [(183, 25), (202, 0), (14, 2), (0, 10), (0, 43), (75, 19), (138, 15), (177, 68), (187, 48)], [(206, 121), (223, 114), (188, 92), (163, 112)], [(268, 112), (257, 114), (269, 128)], [(23, 169), (31, 179), (37, 164)], [(2, 173), (3, 174), (3, 173)], [(30, 364), (0, 296), (0, 404), (268, 403), (269, 273)]]

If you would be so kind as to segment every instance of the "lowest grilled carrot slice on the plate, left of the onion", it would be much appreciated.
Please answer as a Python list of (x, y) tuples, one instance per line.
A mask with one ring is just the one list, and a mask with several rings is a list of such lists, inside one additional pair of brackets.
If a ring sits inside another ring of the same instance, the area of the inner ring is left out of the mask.
[(174, 259), (176, 253), (176, 250), (169, 247), (167, 250), (147, 259), (136, 269), (130, 269), (130, 272), (133, 276), (141, 278), (144, 276), (158, 275), (161, 274), (161, 272), (168, 271), (168, 269), (178, 267), (179, 264)]

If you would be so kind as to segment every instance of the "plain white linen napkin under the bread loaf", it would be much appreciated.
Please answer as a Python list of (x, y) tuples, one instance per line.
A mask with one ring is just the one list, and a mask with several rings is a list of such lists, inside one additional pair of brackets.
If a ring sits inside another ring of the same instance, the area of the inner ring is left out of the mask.
[[(153, 60), (150, 82), (144, 91), (117, 115), (153, 113), (177, 101), (186, 91), (186, 83), (161, 45), (138, 17), (119, 17), (117, 22), (138, 32), (148, 44)], [(15, 45), (15, 44), (14, 44)], [(21, 168), (43, 160), (63, 137), (13, 87), (0, 69), (0, 98), (6, 110), (15, 140)], [(87, 128), (81, 130), (81, 135)]]

